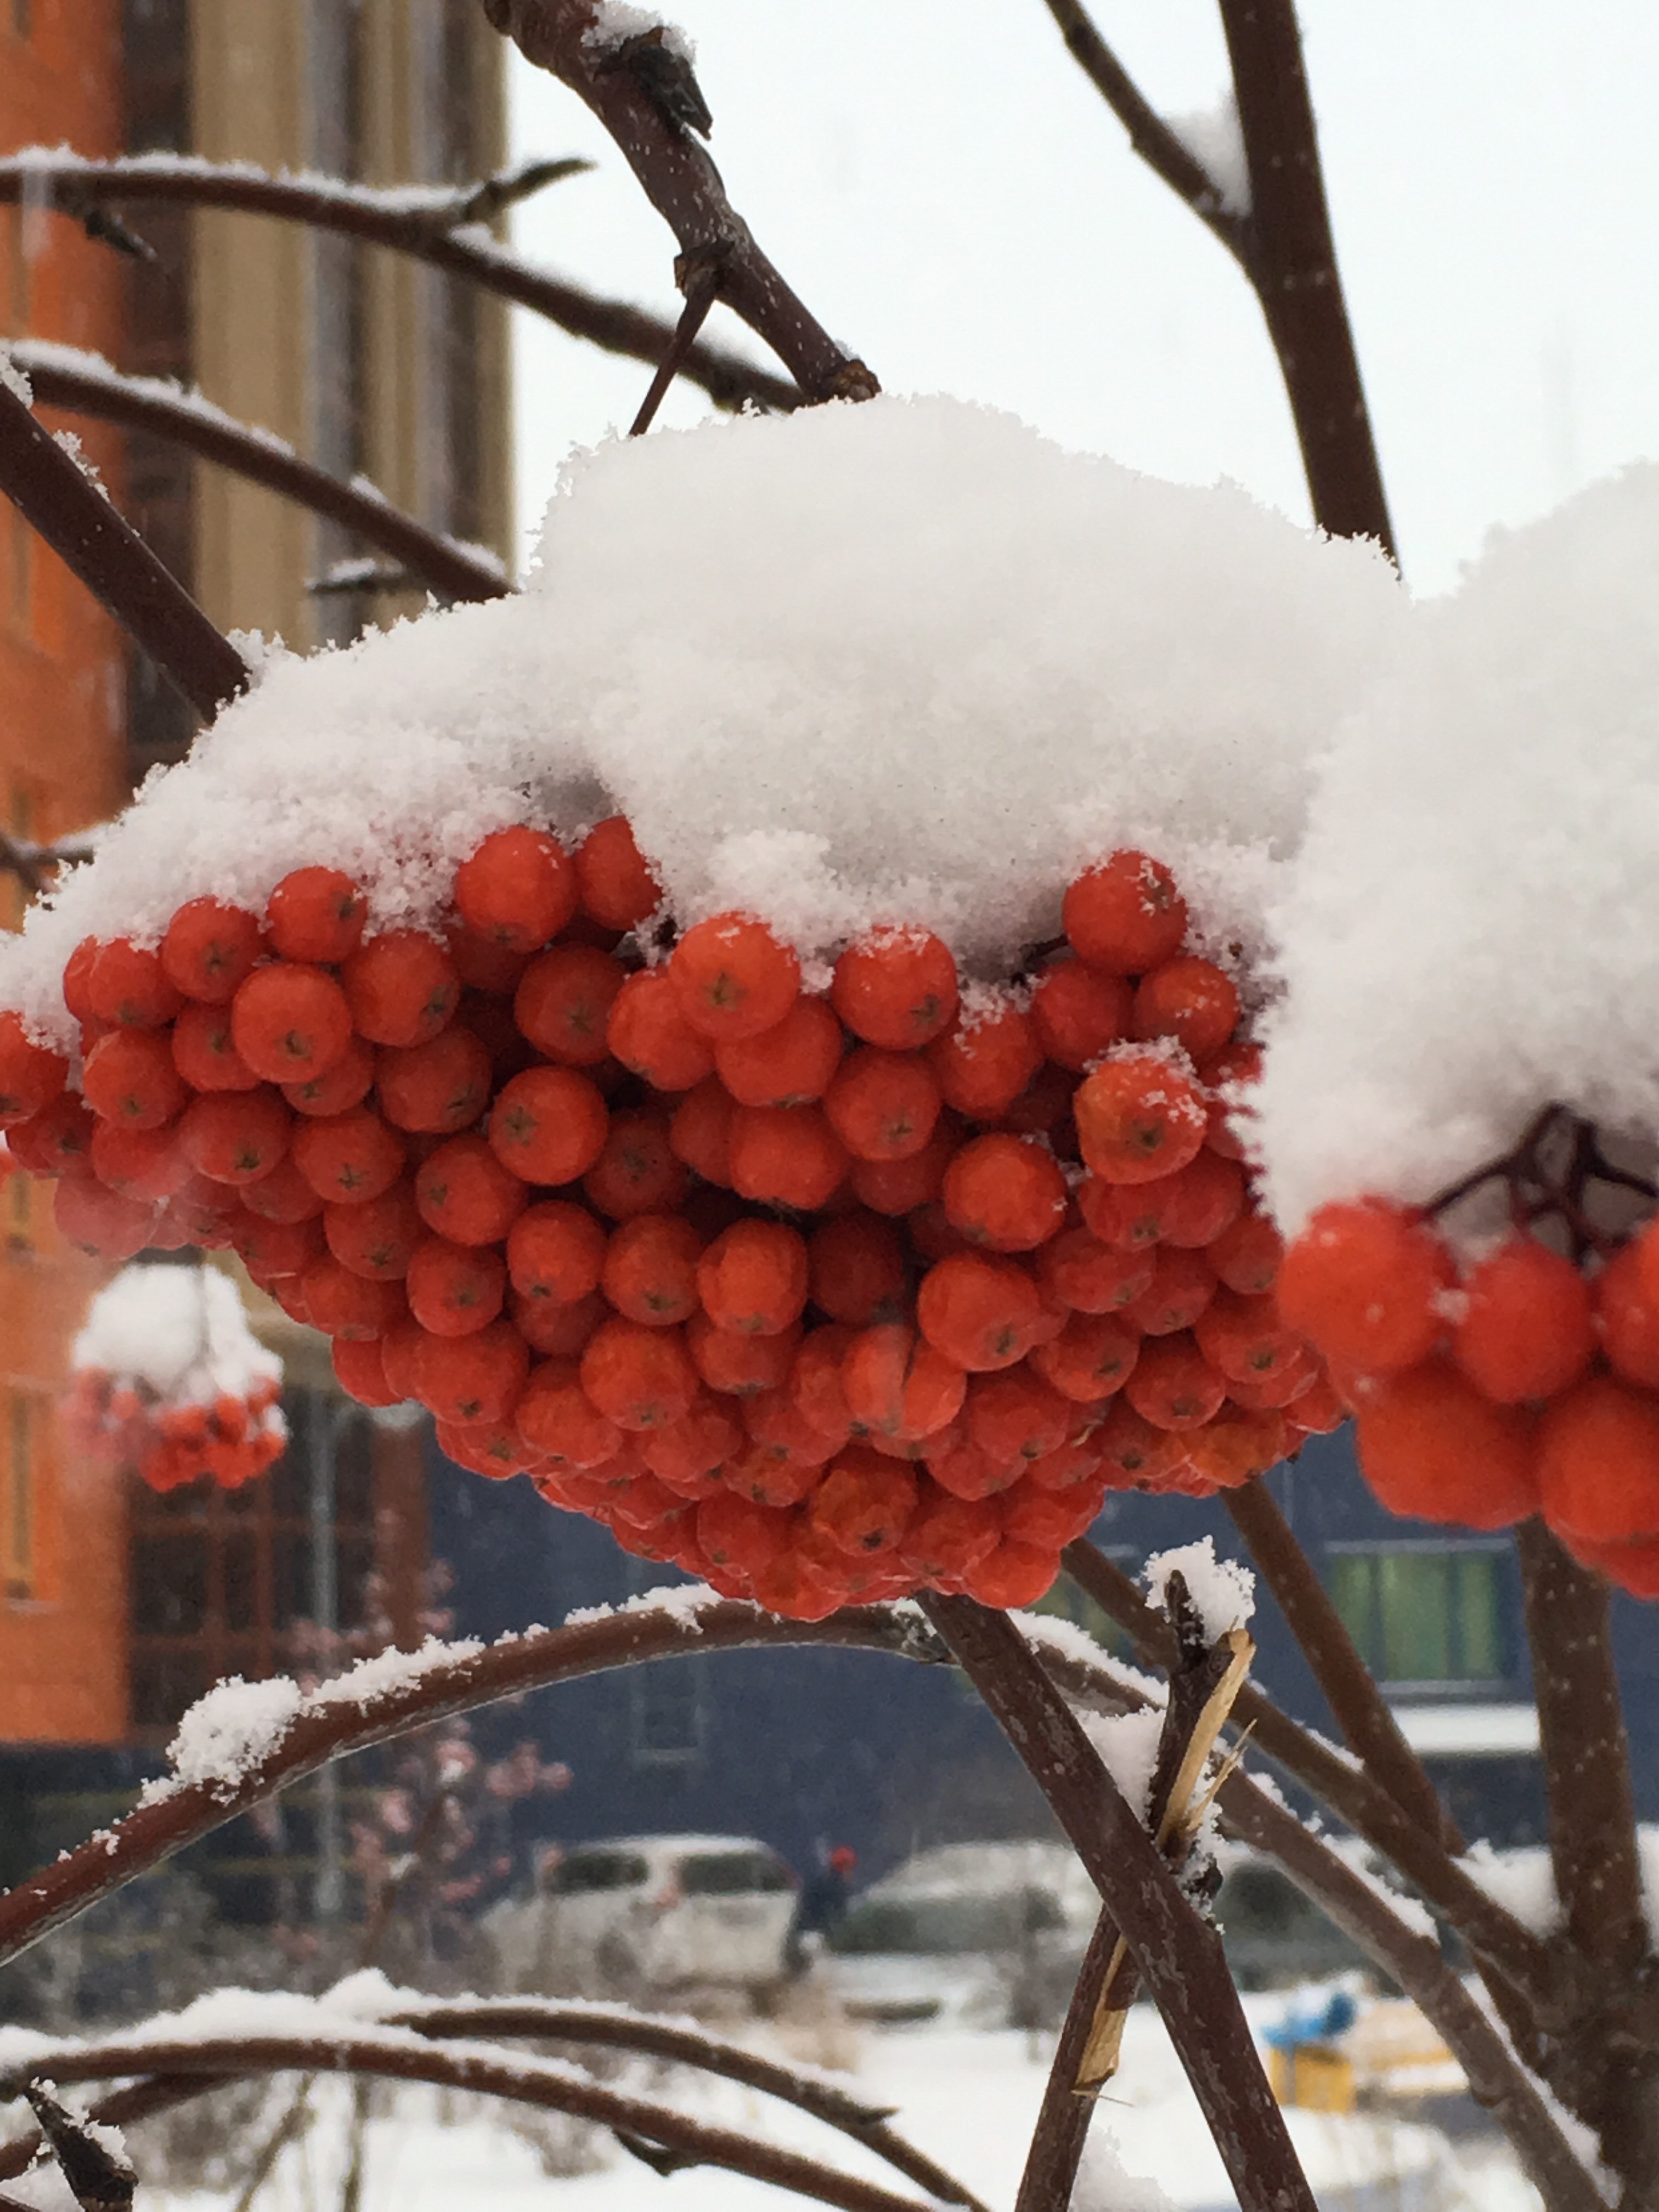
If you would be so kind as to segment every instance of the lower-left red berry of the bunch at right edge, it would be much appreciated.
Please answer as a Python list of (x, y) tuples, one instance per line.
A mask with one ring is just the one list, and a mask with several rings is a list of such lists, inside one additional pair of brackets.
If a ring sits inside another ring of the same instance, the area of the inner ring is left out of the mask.
[[(1575, 1396), (1559, 1405), (1568, 1407)], [(1571, 1429), (1568, 1416), (1562, 1436)], [(1537, 1511), (1531, 1416), (1493, 1405), (1447, 1360), (1374, 1380), (1358, 1413), (1358, 1451), (1365, 1480), (1389, 1513), (1506, 1528)], [(1655, 1480), (1659, 1484), (1659, 1462)]]

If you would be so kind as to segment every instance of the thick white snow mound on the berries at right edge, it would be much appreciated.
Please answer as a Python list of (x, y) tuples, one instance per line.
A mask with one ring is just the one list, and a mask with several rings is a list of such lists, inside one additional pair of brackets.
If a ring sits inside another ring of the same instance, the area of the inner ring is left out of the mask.
[(1493, 538), (1325, 761), (1272, 914), (1267, 1194), (1422, 1201), (1551, 1099), (1659, 1133), (1659, 467)]

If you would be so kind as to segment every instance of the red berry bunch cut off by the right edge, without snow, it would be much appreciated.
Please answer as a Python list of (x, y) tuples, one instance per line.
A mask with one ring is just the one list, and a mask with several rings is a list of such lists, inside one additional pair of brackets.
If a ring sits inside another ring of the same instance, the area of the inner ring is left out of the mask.
[(1517, 1228), (1460, 1270), (1429, 1214), (1323, 1206), (1279, 1301), (1329, 1363), (1391, 1513), (1542, 1513), (1586, 1566), (1659, 1597), (1659, 1221), (1584, 1263)]

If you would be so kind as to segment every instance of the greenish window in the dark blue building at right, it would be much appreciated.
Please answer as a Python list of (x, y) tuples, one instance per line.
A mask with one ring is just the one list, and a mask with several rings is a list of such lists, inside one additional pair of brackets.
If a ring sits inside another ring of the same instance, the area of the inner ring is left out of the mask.
[(1493, 1683), (1509, 1672), (1500, 1559), (1489, 1544), (1340, 1548), (1329, 1593), (1378, 1681)]

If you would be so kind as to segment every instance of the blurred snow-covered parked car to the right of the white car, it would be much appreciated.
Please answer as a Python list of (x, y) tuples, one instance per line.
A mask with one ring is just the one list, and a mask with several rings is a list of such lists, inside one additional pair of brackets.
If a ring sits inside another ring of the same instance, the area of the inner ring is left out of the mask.
[(1062, 1843), (947, 1843), (854, 1898), (825, 1978), (856, 2020), (1046, 2026), (1097, 1911)]

